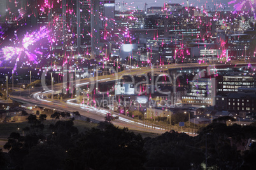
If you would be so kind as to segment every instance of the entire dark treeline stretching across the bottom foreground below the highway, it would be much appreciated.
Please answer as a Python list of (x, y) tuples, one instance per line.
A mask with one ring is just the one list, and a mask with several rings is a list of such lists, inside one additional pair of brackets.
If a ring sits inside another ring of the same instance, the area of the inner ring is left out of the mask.
[[(255, 126), (214, 122), (196, 137), (175, 131), (142, 138), (109, 122), (78, 133), (73, 119), (43, 126), (45, 117), (29, 117), (25, 136), (13, 132), (0, 152), (0, 169), (254, 169), (256, 147), (244, 151)], [(43, 128), (52, 133), (43, 134)], [(241, 147), (242, 146), (242, 147)], [(206, 149), (207, 148), (207, 149)], [(242, 149), (241, 149), (242, 148)]]

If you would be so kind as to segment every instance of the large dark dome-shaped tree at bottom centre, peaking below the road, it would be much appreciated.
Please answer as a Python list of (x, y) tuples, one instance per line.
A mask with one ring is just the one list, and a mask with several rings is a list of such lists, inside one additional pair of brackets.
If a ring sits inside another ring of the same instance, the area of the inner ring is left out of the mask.
[(66, 169), (142, 169), (145, 160), (140, 135), (107, 124), (92, 128), (68, 152)]

